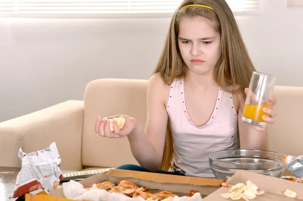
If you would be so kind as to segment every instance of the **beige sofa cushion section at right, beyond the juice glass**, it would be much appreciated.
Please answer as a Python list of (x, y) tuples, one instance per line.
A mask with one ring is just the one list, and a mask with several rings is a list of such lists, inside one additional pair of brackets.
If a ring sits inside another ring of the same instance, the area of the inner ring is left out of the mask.
[(302, 155), (303, 87), (276, 86), (278, 99), (275, 123), (268, 125), (269, 150), (285, 155)]

